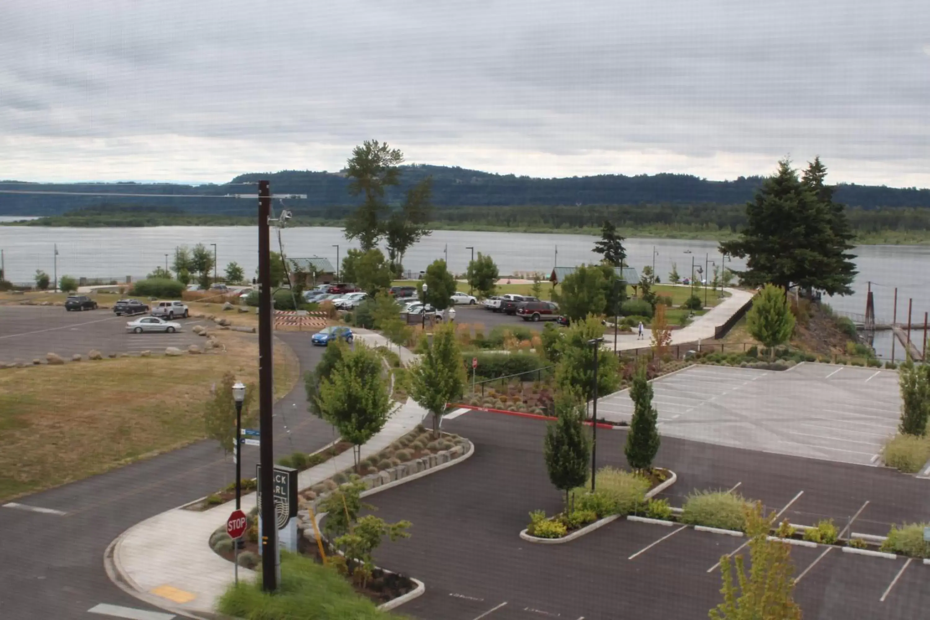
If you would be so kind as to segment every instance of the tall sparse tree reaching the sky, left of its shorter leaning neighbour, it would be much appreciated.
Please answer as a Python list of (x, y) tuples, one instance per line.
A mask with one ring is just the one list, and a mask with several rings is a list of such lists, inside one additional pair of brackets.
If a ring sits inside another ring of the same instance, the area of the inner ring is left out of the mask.
[(392, 149), (387, 142), (365, 140), (352, 150), (346, 164), (346, 177), (351, 178), (349, 193), (364, 194), (364, 200), (346, 219), (346, 239), (358, 239), (363, 250), (378, 245), (384, 236), (383, 217), (388, 211), (384, 202), (384, 189), (400, 182), (404, 153)]

